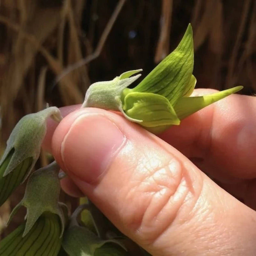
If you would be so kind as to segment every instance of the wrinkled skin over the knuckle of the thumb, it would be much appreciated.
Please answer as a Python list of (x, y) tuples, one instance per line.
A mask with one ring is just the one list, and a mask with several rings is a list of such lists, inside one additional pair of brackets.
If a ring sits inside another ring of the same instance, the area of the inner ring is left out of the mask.
[(140, 179), (126, 195), (125, 201), (130, 202), (129, 210), (126, 207), (122, 214), (126, 226), (135, 230), (146, 244), (152, 243), (172, 224), (191, 190), (189, 175), (184, 173), (182, 163), (172, 158), (164, 165), (141, 172)]

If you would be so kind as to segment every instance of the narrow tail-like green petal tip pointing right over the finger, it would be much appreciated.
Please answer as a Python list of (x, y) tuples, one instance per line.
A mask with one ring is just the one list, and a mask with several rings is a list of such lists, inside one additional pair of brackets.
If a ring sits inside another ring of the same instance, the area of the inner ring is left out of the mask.
[(210, 95), (181, 98), (174, 106), (174, 110), (179, 119), (182, 120), (185, 117), (192, 115), (196, 111), (205, 108), (210, 104), (221, 100), (232, 93), (238, 92), (241, 89), (243, 89), (243, 86), (236, 86), (234, 88), (230, 88)]

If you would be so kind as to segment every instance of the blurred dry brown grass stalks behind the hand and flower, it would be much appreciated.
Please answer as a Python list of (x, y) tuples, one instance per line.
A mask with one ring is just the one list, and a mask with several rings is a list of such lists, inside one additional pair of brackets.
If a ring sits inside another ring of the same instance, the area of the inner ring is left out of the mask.
[[(16, 122), (45, 108), (46, 102), (58, 107), (81, 103), (92, 82), (136, 68), (143, 68), (146, 75), (176, 47), (189, 22), (194, 31), (197, 87), (222, 90), (241, 84), (242, 93), (256, 92), (254, 0), (127, 0), (97, 58), (54, 84), (65, 67), (92, 56), (117, 3), (0, 1), (2, 149)], [(43, 153), (38, 165), (48, 161)], [(23, 189), (0, 208), (0, 226)], [(20, 217), (13, 225), (16, 221)]]

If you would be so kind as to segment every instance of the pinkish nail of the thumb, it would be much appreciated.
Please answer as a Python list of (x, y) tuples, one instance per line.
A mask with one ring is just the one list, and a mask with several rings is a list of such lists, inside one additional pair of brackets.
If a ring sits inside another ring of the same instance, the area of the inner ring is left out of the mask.
[(65, 168), (93, 183), (107, 170), (125, 136), (104, 115), (85, 113), (76, 118), (61, 145)]

